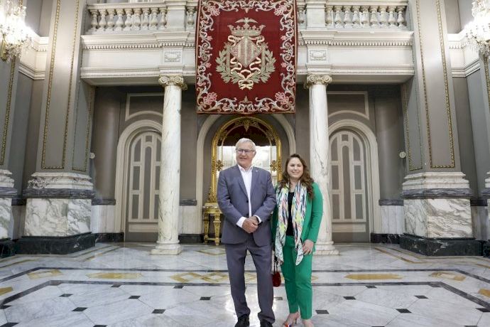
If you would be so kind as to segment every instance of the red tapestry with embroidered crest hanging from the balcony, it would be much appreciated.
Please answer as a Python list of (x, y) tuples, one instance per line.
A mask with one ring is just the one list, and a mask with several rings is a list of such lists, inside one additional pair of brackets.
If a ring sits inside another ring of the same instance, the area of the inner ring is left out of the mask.
[(295, 0), (200, 0), (197, 112), (294, 112)]

